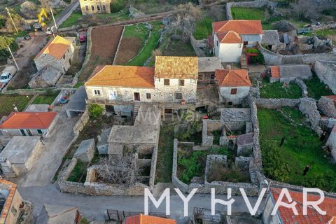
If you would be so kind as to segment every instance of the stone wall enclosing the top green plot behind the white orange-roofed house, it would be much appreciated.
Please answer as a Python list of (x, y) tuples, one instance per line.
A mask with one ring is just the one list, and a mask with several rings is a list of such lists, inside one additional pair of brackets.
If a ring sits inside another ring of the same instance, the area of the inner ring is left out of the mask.
[(233, 20), (231, 7), (244, 7), (244, 8), (261, 8), (263, 6), (268, 6), (274, 13), (278, 13), (275, 10), (276, 3), (267, 0), (255, 0), (255, 1), (237, 1), (237, 2), (228, 2), (226, 3), (226, 19)]

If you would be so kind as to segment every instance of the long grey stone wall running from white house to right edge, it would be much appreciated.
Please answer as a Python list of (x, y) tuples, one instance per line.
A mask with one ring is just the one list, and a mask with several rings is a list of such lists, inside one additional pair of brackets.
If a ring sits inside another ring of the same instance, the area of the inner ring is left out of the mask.
[(314, 64), (319, 60), (336, 61), (335, 53), (304, 54), (304, 55), (280, 55), (258, 45), (267, 65), (278, 64)]

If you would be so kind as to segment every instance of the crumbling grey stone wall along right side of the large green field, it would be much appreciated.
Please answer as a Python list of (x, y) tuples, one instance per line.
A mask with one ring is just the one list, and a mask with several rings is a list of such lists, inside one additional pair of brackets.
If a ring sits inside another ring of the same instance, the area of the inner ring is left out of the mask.
[(320, 125), (320, 113), (317, 110), (315, 99), (312, 98), (301, 98), (299, 109), (301, 113), (303, 113), (307, 117), (307, 121), (311, 124), (311, 129), (321, 136), (323, 134), (323, 130)]

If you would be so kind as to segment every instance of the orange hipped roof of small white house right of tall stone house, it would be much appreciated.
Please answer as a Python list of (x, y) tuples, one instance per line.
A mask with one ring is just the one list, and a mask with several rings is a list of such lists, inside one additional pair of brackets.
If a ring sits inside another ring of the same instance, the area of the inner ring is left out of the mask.
[(251, 80), (245, 69), (227, 70), (216, 69), (218, 85), (221, 87), (251, 86)]

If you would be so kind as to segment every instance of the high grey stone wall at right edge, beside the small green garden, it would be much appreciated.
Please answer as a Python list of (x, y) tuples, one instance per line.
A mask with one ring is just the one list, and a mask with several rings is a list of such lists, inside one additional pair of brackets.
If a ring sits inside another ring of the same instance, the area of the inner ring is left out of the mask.
[(336, 58), (330, 61), (316, 61), (314, 71), (318, 78), (336, 94)]

